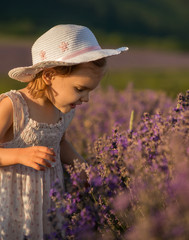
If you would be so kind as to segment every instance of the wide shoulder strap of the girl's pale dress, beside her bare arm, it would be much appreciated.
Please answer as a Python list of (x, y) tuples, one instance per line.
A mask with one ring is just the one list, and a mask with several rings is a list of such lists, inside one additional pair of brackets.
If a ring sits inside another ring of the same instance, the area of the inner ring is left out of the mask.
[(16, 137), (25, 126), (26, 109), (19, 92), (16, 90), (11, 90), (9, 92), (1, 94), (0, 101), (5, 97), (9, 97), (13, 105), (13, 133), (14, 137)]

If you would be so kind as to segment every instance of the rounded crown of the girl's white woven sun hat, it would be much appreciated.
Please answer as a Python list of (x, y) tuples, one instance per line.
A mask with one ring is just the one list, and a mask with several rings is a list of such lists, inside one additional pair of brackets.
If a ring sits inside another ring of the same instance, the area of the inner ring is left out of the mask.
[(94, 46), (101, 49), (87, 27), (73, 24), (57, 25), (35, 41), (32, 46), (32, 62), (35, 65), (43, 60), (67, 58), (70, 54)]

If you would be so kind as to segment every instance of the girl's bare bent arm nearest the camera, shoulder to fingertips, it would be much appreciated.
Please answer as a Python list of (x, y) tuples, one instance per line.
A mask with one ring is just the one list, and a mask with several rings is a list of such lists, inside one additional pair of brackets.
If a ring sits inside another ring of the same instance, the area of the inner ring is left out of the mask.
[[(8, 97), (0, 102), (0, 143), (9, 141), (13, 125), (13, 106)], [(9, 131), (9, 134), (7, 134)], [(13, 134), (12, 134), (13, 135)], [(43, 146), (28, 148), (0, 148), (0, 167), (23, 164), (36, 170), (50, 167), (48, 161), (55, 161), (53, 149)], [(40, 164), (40, 165), (39, 165)]]

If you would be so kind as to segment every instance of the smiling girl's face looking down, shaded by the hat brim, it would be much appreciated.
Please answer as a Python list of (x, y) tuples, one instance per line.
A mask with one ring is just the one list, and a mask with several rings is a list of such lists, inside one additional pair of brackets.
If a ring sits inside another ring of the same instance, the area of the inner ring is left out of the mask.
[(98, 86), (102, 76), (103, 68), (93, 63), (81, 64), (68, 76), (55, 74), (49, 86), (51, 102), (61, 112), (69, 112), (89, 101), (89, 93)]

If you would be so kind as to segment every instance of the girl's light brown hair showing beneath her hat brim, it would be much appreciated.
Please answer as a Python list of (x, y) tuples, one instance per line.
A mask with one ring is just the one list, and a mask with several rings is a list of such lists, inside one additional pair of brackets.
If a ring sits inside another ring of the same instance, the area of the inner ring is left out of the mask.
[[(106, 58), (101, 58), (96, 61), (92, 61), (91, 63), (98, 68), (105, 68), (106, 66)], [(80, 64), (73, 65), (73, 66), (58, 66), (54, 67), (56, 73), (62, 75), (70, 75), (73, 71), (78, 68)], [(27, 88), (29, 93), (32, 95), (33, 98), (41, 98), (44, 97), (46, 94), (51, 98), (51, 94), (48, 89), (48, 85), (42, 79), (43, 71), (36, 74), (35, 78), (28, 83)]]

